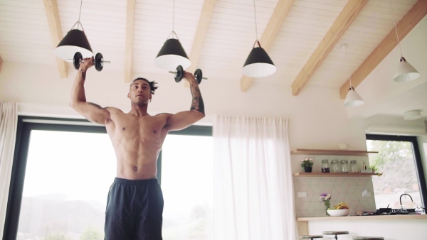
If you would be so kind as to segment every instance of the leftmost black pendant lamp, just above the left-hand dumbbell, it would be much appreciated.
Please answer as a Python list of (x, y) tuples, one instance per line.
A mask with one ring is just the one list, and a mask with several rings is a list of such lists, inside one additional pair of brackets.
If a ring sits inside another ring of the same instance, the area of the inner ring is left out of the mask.
[[(80, 13), (82, 11), (82, 2), (83, 0), (80, 1)], [(83, 25), (80, 23), (80, 13), (78, 13), (78, 21), (53, 51), (62, 60), (72, 60), (76, 52), (81, 53), (83, 58), (93, 56), (93, 51), (83, 30)], [(73, 29), (75, 26), (77, 26), (77, 29)], [(79, 29), (79, 26), (82, 30)]]

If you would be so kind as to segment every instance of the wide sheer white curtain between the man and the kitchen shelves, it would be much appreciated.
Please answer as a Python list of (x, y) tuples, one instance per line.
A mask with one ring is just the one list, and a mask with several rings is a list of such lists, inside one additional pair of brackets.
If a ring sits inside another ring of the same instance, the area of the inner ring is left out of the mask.
[(215, 239), (295, 239), (288, 120), (215, 116), (213, 136)]

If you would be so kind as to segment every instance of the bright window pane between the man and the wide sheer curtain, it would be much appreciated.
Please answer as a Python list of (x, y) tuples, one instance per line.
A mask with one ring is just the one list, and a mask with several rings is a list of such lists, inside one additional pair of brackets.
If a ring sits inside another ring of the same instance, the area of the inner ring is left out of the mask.
[(169, 135), (162, 150), (164, 240), (214, 239), (211, 136)]

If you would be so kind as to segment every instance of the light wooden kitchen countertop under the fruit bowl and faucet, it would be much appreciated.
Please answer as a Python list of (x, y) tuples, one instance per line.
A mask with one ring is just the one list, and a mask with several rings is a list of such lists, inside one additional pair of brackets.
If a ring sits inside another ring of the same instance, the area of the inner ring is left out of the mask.
[(369, 216), (347, 216), (347, 217), (297, 217), (298, 234), (308, 235), (308, 222), (312, 221), (356, 221), (356, 220), (427, 220), (427, 215), (369, 215)]

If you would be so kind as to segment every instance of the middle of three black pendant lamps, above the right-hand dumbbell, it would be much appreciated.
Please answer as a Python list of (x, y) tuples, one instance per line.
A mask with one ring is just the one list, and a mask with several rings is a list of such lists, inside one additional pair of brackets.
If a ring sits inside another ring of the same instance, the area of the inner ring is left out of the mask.
[[(191, 65), (189, 57), (187, 57), (184, 48), (182, 48), (181, 43), (179, 42), (178, 35), (174, 31), (175, 25), (175, 1), (174, 1), (174, 11), (172, 17), (172, 33), (169, 34), (168, 39), (164, 42), (162, 49), (160, 49), (159, 54), (157, 54), (154, 63), (157, 67), (160, 67), (164, 70), (172, 71), (176, 70), (176, 67), (181, 65), (185, 70)], [(172, 36), (172, 38), (170, 38)], [(176, 36), (176, 38), (173, 38)]]

